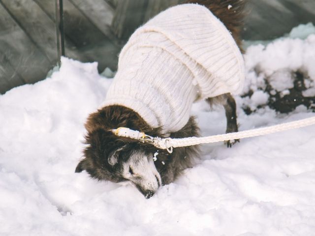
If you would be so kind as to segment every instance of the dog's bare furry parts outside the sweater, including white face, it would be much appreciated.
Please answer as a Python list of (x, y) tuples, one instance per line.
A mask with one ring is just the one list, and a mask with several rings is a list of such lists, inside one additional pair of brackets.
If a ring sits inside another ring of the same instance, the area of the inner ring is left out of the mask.
[[(243, 21), (243, 0), (190, 0), (206, 6), (221, 20), (240, 46), (239, 32)], [(230, 10), (230, 6), (233, 9)], [(227, 119), (226, 132), (238, 131), (236, 104), (230, 93), (207, 98), (212, 105), (222, 104)], [(113, 182), (129, 181), (150, 198), (161, 185), (171, 183), (186, 168), (193, 166), (198, 157), (198, 147), (174, 148), (172, 153), (158, 150), (149, 144), (116, 136), (112, 130), (127, 127), (153, 137), (184, 138), (199, 135), (193, 117), (176, 132), (161, 132), (161, 127), (151, 127), (132, 107), (109, 105), (91, 114), (85, 124), (87, 129), (84, 159), (75, 172), (86, 170), (91, 177)], [(236, 141), (226, 142), (231, 147)], [(158, 153), (158, 155), (157, 155)], [(154, 158), (156, 157), (156, 158)], [(155, 160), (154, 160), (155, 159)]]

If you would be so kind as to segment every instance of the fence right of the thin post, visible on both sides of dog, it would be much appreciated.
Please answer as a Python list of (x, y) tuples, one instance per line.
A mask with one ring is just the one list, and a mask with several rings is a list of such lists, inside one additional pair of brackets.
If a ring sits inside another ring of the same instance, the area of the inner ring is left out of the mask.
[[(97, 61), (99, 72), (106, 67), (116, 70), (118, 54), (137, 27), (160, 11), (186, 1), (63, 0), (65, 55), (84, 62)], [(249, 0), (243, 38), (280, 37), (301, 23), (314, 22), (312, 9), (314, 0)]]

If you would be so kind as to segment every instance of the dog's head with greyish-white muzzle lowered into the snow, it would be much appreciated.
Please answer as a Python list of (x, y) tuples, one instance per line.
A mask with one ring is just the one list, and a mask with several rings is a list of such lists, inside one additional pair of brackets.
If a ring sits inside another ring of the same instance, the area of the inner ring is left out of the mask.
[(79, 162), (75, 172), (86, 170), (99, 180), (130, 181), (146, 198), (150, 198), (161, 185), (153, 160), (154, 150), (137, 141), (118, 137), (104, 125), (91, 128), (90, 123), (86, 125), (85, 158)]

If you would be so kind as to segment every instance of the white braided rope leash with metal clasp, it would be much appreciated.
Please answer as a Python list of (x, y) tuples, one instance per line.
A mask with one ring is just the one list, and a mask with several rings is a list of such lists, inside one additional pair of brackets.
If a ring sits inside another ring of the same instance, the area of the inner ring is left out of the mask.
[(228, 141), (233, 139), (244, 139), (260, 135), (272, 134), (276, 132), (281, 132), (289, 129), (301, 128), (309, 125), (315, 124), (315, 117), (305, 118), (301, 120), (286, 122), (283, 124), (277, 124), (272, 126), (267, 126), (263, 128), (250, 129), (235, 133), (212, 135), (207, 137), (189, 137), (181, 139), (165, 138), (161, 139), (159, 137), (151, 137), (144, 134), (143, 132), (135, 131), (129, 128), (121, 127), (118, 129), (113, 129), (112, 131), (117, 136), (123, 136), (127, 138), (137, 139), (143, 143), (150, 143), (157, 148), (167, 149), (168, 152), (172, 152), (173, 148), (188, 147), (198, 144), (210, 144), (222, 141)]

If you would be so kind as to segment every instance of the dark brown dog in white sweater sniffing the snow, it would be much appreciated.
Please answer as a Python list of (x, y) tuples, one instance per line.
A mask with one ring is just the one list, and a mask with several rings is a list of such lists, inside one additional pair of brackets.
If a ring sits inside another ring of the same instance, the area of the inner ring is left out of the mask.
[(210, 105), (223, 105), (226, 132), (237, 132), (231, 91), (240, 92), (244, 79), (239, 36), (243, 9), (243, 0), (190, 0), (137, 29), (120, 54), (103, 107), (87, 119), (87, 146), (75, 172), (85, 170), (98, 180), (129, 181), (150, 198), (193, 166), (198, 147), (169, 153), (117, 136), (114, 129), (127, 127), (160, 138), (199, 136), (189, 112), (195, 100), (205, 99)]

